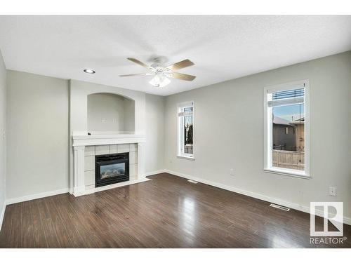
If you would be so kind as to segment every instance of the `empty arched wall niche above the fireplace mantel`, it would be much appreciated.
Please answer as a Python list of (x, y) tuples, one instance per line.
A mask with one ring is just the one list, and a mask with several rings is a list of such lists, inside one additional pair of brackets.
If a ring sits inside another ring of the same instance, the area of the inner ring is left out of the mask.
[(134, 133), (134, 100), (116, 93), (90, 93), (86, 101), (88, 132)]

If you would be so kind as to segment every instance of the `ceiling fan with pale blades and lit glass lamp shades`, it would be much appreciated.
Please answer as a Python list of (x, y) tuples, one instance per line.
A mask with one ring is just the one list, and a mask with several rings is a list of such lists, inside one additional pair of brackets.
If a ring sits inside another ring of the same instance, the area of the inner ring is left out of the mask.
[(142, 67), (147, 69), (145, 73), (138, 73), (138, 74), (126, 74), (126, 75), (119, 75), (119, 76), (154, 76), (151, 81), (149, 82), (152, 86), (157, 88), (162, 88), (167, 86), (171, 83), (171, 80), (168, 78), (173, 79), (181, 79), (183, 81), (193, 81), (196, 76), (183, 74), (174, 72), (173, 70), (183, 69), (185, 67), (190, 67), (194, 65), (193, 62), (190, 60), (182, 60), (170, 66), (164, 66), (164, 58), (154, 58), (154, 62), (152, 65), (146, 65), (144, 62), (137, 60), (135, 58), (127, 58)]

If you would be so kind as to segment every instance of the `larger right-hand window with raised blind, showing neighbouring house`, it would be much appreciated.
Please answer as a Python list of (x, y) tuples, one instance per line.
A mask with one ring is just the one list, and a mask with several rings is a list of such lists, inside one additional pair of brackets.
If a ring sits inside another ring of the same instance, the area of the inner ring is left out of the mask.
[(309, 176), (308, 81), (265, 88), (265, 170)]

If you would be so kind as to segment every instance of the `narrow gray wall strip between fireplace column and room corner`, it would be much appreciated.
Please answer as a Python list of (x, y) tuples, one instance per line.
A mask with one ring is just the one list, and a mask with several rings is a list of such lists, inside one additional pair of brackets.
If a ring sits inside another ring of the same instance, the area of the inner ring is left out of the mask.
[(146, 173), (164, 169), (164, 101), (146, 94)]

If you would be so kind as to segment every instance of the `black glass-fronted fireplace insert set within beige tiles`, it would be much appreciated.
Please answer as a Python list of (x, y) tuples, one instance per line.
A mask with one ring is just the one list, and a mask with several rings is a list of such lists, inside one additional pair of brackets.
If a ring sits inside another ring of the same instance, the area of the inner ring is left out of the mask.
[(95, 187), (129, 180), (129, 153), (95, 156)]

